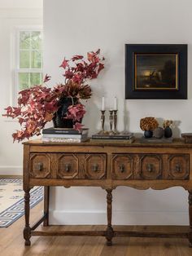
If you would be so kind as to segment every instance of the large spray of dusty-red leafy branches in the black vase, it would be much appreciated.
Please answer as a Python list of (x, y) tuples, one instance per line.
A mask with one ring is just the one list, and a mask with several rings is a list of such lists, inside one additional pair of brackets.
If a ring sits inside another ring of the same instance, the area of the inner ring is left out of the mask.
[(88, 80), (98, 77), (98, 73), (104, 68), (104, 58), (99, 57), (100, 50), (90, 51), (85, 59), (82, 55), (74, 55), (70, 60), (64, 58), (59, 66), (63, 68), (65, 77), (62, 84), (53, 88), (46, 86), (50, 76), (46, 77), (41, 85), (35, 85), (19, 93), (18, 106), (5, 108), (3, 116), (16, 118), (21, 126), (12, 136), (19, 142), (33, 135), (40, 135), (47, 121), (51, 121), (57, 110), (59, 102), (65, 97), (77, 98), (77, 103), (68, 107), (68, 119), (74, 122), (73, 128), (82, 128), (80, 120), (85, 115), (85, 106), (80, 99), (89, 99), (92, 90), (87, 84)]

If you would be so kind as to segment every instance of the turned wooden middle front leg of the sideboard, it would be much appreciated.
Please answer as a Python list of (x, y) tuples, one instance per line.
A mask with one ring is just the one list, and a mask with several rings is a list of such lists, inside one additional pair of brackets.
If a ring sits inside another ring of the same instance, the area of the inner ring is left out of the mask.
[(107, 245), (112, 245), (112, 238), (114, 235), (113, 228), (111, 226), (111, 218), (112, 218), (112, 189), (106, 189), (107, 191), (107, 231), (106, 231), (106, 239)]

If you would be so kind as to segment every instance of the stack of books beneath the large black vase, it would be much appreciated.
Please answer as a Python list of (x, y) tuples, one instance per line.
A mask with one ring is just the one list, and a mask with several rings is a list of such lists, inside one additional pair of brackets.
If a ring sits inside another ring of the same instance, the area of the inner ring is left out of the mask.
[(66, 128), (47, 128), (42, 130), (43, 142), (84, 142), (88, 139), (88, 128), (80, 131)]

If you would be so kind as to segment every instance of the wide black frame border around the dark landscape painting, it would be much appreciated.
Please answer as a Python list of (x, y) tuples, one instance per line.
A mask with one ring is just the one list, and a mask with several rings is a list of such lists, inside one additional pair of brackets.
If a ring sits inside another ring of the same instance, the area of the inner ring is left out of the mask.
[[(178, 90), (133, 90), (135, 53), (178, 54)], [(125, 44), (125, 99), (187, 99), (187, 44)]]

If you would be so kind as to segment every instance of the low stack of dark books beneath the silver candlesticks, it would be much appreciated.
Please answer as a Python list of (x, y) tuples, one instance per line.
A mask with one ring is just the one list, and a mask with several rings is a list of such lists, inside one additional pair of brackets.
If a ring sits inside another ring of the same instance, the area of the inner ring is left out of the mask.
[(93, 142), (107, 142), (107, 143), (133, 143), (133, 133), (120, 133), (117, 135), (92, 135), (91, 141)]

